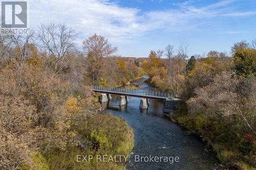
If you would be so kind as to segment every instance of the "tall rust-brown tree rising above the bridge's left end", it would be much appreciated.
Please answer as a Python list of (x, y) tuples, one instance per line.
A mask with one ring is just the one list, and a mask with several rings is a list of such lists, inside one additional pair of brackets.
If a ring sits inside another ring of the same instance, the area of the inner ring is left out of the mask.
[[(117, 51), (117, 47), (112, 47), (108, 39), (94, 34), (87, 40), (83, 41), (83, 49), (88, 57), (88, 64), (91, 68), (88, 70), (92, 74), (92, 80), (99, 81), (99, 74), (103, 66), (103, 58), (110, 57)], [(93, 58), (93, 60), (91, 60)]]

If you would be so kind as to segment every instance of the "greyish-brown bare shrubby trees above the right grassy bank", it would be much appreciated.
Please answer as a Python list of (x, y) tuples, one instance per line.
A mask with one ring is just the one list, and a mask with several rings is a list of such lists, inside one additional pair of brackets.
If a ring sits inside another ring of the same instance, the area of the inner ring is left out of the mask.
[(243, 126), (255, 135), (254, 87), (254, 77), (244, 81), (223, 72), (216, 75), (211, 84), (195, 90), (197, 97), (187, 101), (189, 113), (192, 116), (204, 113), (204, 117), (214, 118), (220, 122), (231, 123), (233, 119), (237, 119), (241, 124), (242, 120)]

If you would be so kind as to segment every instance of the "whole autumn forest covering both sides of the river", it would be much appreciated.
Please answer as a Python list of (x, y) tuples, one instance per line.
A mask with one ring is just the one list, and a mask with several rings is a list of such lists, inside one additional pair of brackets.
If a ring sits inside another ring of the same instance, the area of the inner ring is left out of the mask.
[[(82, 49), (65, 24), (0, 36), (0, 169), (125, 169), (125, 162), (77, 162), (76, 155), (129, 155), (133, 130), (101, 114), (91, 85), (116, 87), (148, 75), (181, 101), (173, 118), (201, 135), (229, 167), (256, 167), (256, 41), (231, 53), (189, 57), (186, 43), (148, 58), (122, 58), (94, 34)], [(117, 135), (118, 134), (118, 135)]]

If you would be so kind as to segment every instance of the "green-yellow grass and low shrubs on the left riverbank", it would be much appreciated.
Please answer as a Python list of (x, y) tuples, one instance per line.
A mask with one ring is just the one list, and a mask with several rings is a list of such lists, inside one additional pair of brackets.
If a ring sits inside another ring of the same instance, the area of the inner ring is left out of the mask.
[[(81, 136), (82, 143), (89, 147), (88, 150), (74, 145), (69, 145), (66, 151), (51, 150), (45, 155), (50, 169), (125, 169), (124, 159), (121, 162), (96, 161), (96, 155), (130, 155), (134, 147), (134, 133), (123, 118), (105, 113), (97, 114), (74, 128)], [(111, 144), (105, 148), (93, 148), (95, 141), (91, 137), (92, 132), (97, 132), (100, 134), (97, 138), (107, 140)], [(77, 162), (77, 155), (94, 157), (90, 162)]]

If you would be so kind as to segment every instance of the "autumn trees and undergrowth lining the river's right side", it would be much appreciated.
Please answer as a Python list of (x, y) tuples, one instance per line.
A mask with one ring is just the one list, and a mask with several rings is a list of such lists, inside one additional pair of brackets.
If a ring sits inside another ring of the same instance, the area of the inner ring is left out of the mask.
[[(178, 50), (151, 51), (142, 67), (156, 88), (179, 94), (174, 118), (203, 136), (223, 163), (253, 169), (256, 155), (256, 40), (234, 43), (230, 54), (210, 51), (188, 58)], [(165, 55), (165, 58), (161, 57)]]

